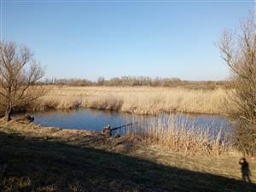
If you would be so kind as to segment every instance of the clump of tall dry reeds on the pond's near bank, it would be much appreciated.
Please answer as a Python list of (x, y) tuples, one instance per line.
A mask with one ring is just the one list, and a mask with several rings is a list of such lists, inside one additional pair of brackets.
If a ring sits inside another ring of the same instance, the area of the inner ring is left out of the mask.
[(216, 135), (212, 128), (195, 126), (187, 119), (156, 119), (127, 130), (127, 137), (138, 139), (143, 143), (155, 144), (183, 154), (219, 155), (229, 153), (232, 149), (225, 134), (219, 129)]

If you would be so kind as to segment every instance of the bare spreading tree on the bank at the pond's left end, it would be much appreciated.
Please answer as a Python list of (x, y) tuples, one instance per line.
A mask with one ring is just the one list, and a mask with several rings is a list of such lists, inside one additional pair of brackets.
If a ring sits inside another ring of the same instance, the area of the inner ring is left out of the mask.
[(26, 46), (13, 42), (0, 42), (0, 96), (5, 109), (5, 119), (10, 120), (13, 108), (26, 106), (38, 98), (32, 86), (44, 76), (44, 70), (33, 59)]

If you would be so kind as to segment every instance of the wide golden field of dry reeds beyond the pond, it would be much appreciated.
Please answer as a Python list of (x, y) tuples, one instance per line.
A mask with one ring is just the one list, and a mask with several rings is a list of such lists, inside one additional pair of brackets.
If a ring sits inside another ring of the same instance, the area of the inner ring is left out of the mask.
[(49, 108), (97, 108), (138, 114), (224, 114), (224, 89), (192, 90), (183, 87), (78, 87), (44, 86), (36, 110)]

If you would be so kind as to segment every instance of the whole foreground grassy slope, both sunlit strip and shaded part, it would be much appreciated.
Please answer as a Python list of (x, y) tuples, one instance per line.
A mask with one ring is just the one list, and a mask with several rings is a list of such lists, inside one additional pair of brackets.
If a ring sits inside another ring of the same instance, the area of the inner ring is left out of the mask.
[(1, 191), (255, 191), (240, 155), (183, 156), (129, 137), (0, 121)]

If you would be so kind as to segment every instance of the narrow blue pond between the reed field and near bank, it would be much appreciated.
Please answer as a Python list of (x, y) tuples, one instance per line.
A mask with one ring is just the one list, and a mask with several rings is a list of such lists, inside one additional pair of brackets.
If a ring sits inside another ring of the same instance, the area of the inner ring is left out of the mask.
[[(42, 126), (54, 126), (88, 131), (102, 131), (103, 127), (106, 125), (117, 127), (132, 122), (139, 122), (139, 125), (146, 129), (148, 126), (152, 125), (167, 125), (170, 124), (170, 121), (173, 125), (177, 126), (177, 128), (201, 128), (210, 131), (213, 136), (216, 136), (220, 129), (223, 132), (231, 131), (229, 120), (216, 115), (162, 113), (158, 116), (143, 116), (97, 109), (79, 109), (70, 111), (57, 110), (31, 113), (31, 115), (35, 118), (34, 122)], [(118, 132), (121, 135), (124, 135), (125, 129), (121, 129)], [(113, 135), (116, 133), (117, 131), (113, 132)]]

